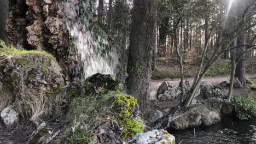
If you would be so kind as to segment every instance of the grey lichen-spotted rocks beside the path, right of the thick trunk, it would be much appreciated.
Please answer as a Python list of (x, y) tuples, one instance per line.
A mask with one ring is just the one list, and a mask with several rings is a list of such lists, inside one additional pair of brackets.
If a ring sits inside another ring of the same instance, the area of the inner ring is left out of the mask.
[[(172, 86), (169, 82), (162, 82), (158, 89), (157, 99), (159, 101), (170, 101), (172, 99), (178, 99), (181, 97), (181, 83), (179, 86)], [(190, 89), (188, 81), (184, 82), (184, 91), (187, 93)], [(197, 96), (197, 95), (196, 95)]]

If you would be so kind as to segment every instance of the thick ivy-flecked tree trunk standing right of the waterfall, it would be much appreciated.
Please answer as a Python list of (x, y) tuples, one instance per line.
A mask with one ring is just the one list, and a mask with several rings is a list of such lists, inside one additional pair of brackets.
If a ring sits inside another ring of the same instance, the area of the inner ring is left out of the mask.
[(134, 0), (131, 40), (126, 79), (127, 93), (138, 100), (143, 113), (148, 110), (152, 50), (155, 45), (155, 1)]

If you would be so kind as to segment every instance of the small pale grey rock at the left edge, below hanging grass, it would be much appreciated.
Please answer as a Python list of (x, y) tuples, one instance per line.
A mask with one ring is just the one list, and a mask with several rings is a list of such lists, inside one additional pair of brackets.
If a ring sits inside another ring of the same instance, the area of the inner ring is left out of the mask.
[(18, 114), (10, 106), (1, 112), (1, 119), (7, 127), (18, 124)]

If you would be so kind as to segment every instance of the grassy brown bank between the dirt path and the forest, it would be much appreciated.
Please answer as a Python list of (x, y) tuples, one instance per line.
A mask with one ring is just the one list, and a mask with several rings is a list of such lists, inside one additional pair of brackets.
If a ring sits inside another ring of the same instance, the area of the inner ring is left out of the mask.
[[(207, 60), (203, 63), (205, 67)], [(200, 59), (188, 59), (184, 61), (184, 77), (194, 77), (199, 68)], [(159, 57), (156, 61), (156, 70), (152, 72), (153, 80), (178, 79), (180, 77), (179, 63), (171, 57)], [(219, 59), (205, 77), (224, 77), (230, 74), (230, 60)], [(246, 61), (246, 74), (256, 74), (256, 58), (248, 58)]]

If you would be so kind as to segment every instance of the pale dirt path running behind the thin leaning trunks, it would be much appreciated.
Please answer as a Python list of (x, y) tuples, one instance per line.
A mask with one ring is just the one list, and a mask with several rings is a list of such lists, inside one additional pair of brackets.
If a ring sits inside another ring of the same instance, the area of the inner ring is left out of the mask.
[[(252, 77), (255, 77), (256, 75), (247, 75), (247, 77), (249, 77), (250, 79), (252, 79)], [(204, 78), (202, 81), (208, 81), (208, 82), (211, 82), (212, 85), (218, 85), (220, 82), (223, 82), (223, 81), (227, 81), (229, 82), (229, 78), (230, 76), (225, 76), (225, 77), (206, 77)], [(190, 85), (193, 83), (193, 80), (194, 79), (185, 79), (185, 81), (189, 81)], [(153, 80), (150, 84), (150, 90), (151, 91), (156, 91), (159, 86), (161, 85), (162, 82), (164, 81), (168, 81), (170, 83), (172, 83), (172, 85), (179, 85), (179, 82), (181, 80), (179, 79), (172, 79), (172, 80)]]

